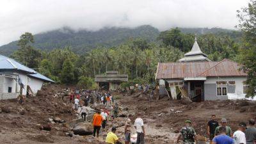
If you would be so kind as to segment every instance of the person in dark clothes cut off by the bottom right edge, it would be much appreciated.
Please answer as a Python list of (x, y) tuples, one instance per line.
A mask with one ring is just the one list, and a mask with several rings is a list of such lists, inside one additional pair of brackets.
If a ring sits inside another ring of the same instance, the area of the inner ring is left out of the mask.
[(245, 133), (246, 144), (256, 144), (256, 128), (255, 120), (249, 120), (249, 126), (247, 127)]

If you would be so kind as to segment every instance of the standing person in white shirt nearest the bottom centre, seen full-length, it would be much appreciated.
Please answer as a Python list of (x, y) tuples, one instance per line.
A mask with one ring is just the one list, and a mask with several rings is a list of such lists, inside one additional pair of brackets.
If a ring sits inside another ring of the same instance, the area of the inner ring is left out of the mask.
[(136, 129), (137, 132), (137, 141), (136, 144), (144, 144), (144, 137), (145, 137), (145, 129), (144, 129), (144, 124), (143, 124), (143, 120), (141, 118), (141, 113), (137, 114), (137, 118), (134, 122), (134, 127)]

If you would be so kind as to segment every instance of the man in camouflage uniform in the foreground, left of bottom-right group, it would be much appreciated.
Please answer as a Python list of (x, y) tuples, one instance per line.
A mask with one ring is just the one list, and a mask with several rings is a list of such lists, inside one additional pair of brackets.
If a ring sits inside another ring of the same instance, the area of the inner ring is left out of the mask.
[(180, 130), (179, 136), (177, 138), (177, 143), (179, 143), (179, 140), (182, 136), (183, 144), (195, 144), (196, 141), (196, 132), (193, 127), (191, 127), (191, 121), (186, 120), (185, 121), (186, 126), (182, 127)]

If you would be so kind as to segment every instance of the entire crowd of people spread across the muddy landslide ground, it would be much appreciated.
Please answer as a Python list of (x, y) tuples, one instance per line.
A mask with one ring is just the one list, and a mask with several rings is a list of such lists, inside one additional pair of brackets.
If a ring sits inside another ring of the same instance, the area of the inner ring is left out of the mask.
[[(138, 86), (140, 87), (140, 86)], [(147, 87), (147, 86), (145, 86)], [(141, 88), (141, 90), (143, 90)], [(147, 88), (143, 92), (147, 92)], [(106, 108), (111, 108), (112, 111), (108, 109), (96, 109), (93, 115), (92, 125), (93, 125), (93, 136), (99, 138), (100, 129), (105, 129), (108, 120), (111, 118), (114, 120), (118, 117), (118, 104), (115, 102), (113, 95), (106, 91), (91, 91), (91, 90), (76, 90), (70, 91), (68, 93), (70, 102), (74, 103), (74, 109), (77, 110), (84, 122), (86, 122), (86, 115), (89, 115), (90, 107), (93, 104), (103, 104)], [(110, 118), (109, 118), (110, 117)], [(131, 143), (131, 127), (136, 129), (136, 144), (145, 143), (145, 128), (143, 124), (143, 119), (141, 118), (141, 113), (136, 114), (136, 119), (132, 125), (132, 120), (134, 116), (128, 115), (124, 127), (124, 140), (125, 144)], [(177, 137), (177, 143), (182, 139), (184, 144), (194, 144), (196, 143), (196, 131), (191, 126), (191, 120), (186, 120), (185, 126), (179, 132)], [(216, 115), (211, 116), (207, 124), (207, 136), (209, 136), (210, 144), (256, 144), (256, 128), (255, 120), (251, 119), (246, 123), (241, 122), (238, 125), (236, 132), (232, 132), (232, 129), (227, 124), (227, 119), (222, 118), (219, 122), (216, 120)], [(108, 132), (106, 136), (107, 144), (118, 144), (120, 143), (120, 138), (116, 135), (116, 127), (113, 126), (111, 131)]]

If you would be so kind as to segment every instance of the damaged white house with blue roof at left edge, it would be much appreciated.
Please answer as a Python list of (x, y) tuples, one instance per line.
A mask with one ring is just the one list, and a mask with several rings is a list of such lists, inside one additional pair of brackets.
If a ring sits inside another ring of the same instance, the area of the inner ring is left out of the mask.
[(54, 83), (12, 58), (0, 55), (0, 100), (16, 99), (20, 92), (22, 95), (36, 95), (44, 82)]

